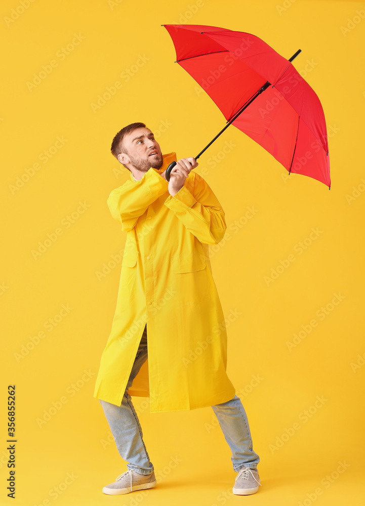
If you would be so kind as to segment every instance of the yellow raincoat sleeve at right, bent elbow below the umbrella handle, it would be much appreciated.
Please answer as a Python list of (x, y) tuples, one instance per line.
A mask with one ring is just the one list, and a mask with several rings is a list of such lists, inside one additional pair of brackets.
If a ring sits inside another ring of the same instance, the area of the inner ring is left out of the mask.
[(227, 225), (224, 211), (208, 183), (197, 173), (194, 174), (192, 190), (184, 185), (174, 196), (164, 202), (187, 230), (200, 242), (218, 244), (224, 236)]

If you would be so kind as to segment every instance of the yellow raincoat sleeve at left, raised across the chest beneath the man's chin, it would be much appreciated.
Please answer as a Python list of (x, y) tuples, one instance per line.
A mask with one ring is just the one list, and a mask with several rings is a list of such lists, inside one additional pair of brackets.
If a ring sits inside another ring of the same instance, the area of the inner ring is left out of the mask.
[(121, 223), (121, 230), (128, 232), (136, 225), (147, 207), (168, 191), (169, 183), (154, 168), (139, 181), (126, 181), (110, 192), (107, 204), (111, 216)]

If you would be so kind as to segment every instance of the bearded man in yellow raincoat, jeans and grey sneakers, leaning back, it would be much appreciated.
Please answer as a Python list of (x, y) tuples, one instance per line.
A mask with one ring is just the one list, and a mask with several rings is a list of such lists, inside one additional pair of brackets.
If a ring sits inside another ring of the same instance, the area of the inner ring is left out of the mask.
[(136, 395), (149, 396), (151, 412), (212, 406), (237, 472), (233, 493), (255, 493), (260, 459), (226, 374), (226, 327), (209, 259), (209, 244), (218, 244), (227, 228), (223, 209), (192, 171), (195, 159), (163, 155), (144, 123), (121, 129), (111, 152), (131, 172), (107, 200), (127, 238), (94, 397), (128, 471), (103, 492), (119, 495), (156, 484), (131, 400)]

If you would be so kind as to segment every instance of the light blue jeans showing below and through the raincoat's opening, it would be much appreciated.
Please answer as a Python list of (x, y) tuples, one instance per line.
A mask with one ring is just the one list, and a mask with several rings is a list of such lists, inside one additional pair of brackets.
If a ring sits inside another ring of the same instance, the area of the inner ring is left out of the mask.
[[(127, 469), (141, 474), (153, 472), (143, 442), (142, 428), (128, 393), (142, 364), (147, 359), (147, 325), (144, 328), (137, 355), (120, 406), (99, 399), (120, 456), (127, 461)], [(232, 452), (233, 470), (256, 468), (260, 457), (253, 451), (249, 421), (244, 406), (236, 395), (227, 402), (212, 406), (219, 425)]]

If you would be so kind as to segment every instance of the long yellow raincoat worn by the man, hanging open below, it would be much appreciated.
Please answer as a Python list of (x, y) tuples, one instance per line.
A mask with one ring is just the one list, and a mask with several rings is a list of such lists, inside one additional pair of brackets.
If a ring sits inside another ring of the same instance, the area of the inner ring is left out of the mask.
[(130, 395), (150, 397), (150, 411), (179, 411), (232, 399), (227, 333), (208, 244), (227, 228), (223, 209), (195, 171), (174, 195), (159, 174), (112, 190), (107, 204), (127, 232), (116, 310), (101, 356), (94, 397), (120, 405), (147, 323), (148, 358)]

